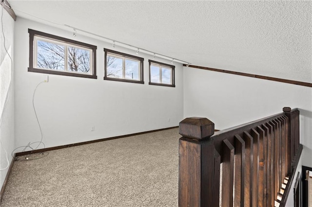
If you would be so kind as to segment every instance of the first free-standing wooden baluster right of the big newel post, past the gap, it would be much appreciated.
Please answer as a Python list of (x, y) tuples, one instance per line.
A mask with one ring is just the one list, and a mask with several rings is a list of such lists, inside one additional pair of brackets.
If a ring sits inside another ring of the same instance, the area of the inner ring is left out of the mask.
[(228, 139), (222, 141), (222, 207), (233, 207), (234, 147)]

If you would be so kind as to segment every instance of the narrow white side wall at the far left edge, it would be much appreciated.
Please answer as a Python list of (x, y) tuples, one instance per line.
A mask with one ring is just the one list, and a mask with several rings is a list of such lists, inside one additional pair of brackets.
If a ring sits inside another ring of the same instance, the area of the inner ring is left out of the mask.
[[(9, 55), (13, 59), (13, 37), (14, 37), (14, 20), (0, 6), (0, 17), (2, 16), (3, 33), (0, 32), (0, 116), (2, 122), (0, 125), (0, 188), (8, 172), (8, 163), (11, 163), (11, 152), (14, 148), (14, 80), (13, 66)], [(0, 29), (2, 30), (2, 28)], [(7, 54), (4, 48), (8, 51)], [(10, 86), (11, 82), (11, 86)], [(7, 92), (9, 91), (8, 97)], [(7, 97), (7, 98), (6, 98)], [(5, 101), (7, 99), (7, 101)]]

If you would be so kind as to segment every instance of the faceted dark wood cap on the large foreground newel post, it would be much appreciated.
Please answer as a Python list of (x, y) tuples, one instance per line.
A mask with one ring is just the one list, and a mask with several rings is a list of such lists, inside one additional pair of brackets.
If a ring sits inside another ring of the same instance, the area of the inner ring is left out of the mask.
[(179, 134), (197, 140), (209, 138), (215, 134), (215, 124), (207, 118), (186, 118), (179, 123)]

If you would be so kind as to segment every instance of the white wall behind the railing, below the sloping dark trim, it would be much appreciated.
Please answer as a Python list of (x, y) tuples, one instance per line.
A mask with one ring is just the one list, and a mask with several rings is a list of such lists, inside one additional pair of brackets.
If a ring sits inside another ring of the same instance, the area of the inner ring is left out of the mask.
[(312, 88), (184, 67), (184, 118), (206, 117), (226, 129), (281, 113), (300, 111), (302, 165), (312, 166)]

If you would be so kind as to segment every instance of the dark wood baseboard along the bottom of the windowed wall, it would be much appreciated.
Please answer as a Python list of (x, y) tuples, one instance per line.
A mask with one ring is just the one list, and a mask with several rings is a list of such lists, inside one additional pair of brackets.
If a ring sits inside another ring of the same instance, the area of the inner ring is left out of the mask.
[(174, 128), (178, 128), (178, 126), (173, 126), (173, 127), (163, 128), (163, 129), (155, 129), (155, 130), (150, 130), (150, 131), (146, 131), (146, 132), (139, 132), (139, 133), (134, 133), (134, 134), (129, 134), (129, 135), (121, 135), (121, 136), (111, 137), (111, 138), (101, 138), (101, 139), (96, 139), (96, 140), (91, 140), (91, 141), (78, 142), (78, 143), (74, 143), (74, 144), (66, 144), (66, 145), (61, 145), (61, 146), (56, 146), (56, 147), (48, 147), (48, 148), (39, 149), (39, 150), (20, 152), (20, 153), (16, 153), (16, 156), (42, 153), (42, 152), (51, 151), (51, 150), (59, 150), (62, 148), (67, 148), (67, 147), (75, 147), (75, 146), (79, 146), (79, 145), (83, 145), (83, 144), (91, 144), (91, 143), (95, 143), (95, 142), (99, 142), (99, 141), (107, 141), (107, 140), (112, 140), (112, 139), (117, 139), (117, 138), (126, 138), (126, 137), (131, 137), (131, 136), (143, 135), (143, 134), (147, 134), (147, 133), (159, 132), (159, 131), (163, 131), (163, 130), (167, 130), (167, 129), (174, 129)]

